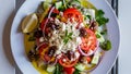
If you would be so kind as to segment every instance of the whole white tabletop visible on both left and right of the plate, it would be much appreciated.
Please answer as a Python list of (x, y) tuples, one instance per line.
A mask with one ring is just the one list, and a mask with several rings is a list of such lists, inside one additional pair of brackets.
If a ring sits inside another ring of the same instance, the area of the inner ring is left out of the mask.
[[(131, 73), (131, 0), (119, 0), (119, 74)], [(10, 49), (10, 28), (14, 16), (15, 0), (0, 0), (0, 74), (15, 74)]]

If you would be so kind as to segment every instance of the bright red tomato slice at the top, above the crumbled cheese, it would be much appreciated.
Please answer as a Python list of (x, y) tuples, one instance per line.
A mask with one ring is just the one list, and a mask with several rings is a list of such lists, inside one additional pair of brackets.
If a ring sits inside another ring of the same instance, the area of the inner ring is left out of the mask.
[(75, 8), (67, 9), (63, 12), (63, 16), (67, 20), (74, 17), (74, 21), (76, 21), (76, 22), (83, 22), (83, 16), (82, 16), (81, 12), (78, 9), (75, 9)]

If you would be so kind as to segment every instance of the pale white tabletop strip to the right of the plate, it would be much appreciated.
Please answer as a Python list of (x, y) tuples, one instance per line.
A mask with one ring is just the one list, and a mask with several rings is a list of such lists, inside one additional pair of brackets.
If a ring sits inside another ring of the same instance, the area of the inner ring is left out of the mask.
[(119, 0), (119, 74), (131, 74), (131, 0)]

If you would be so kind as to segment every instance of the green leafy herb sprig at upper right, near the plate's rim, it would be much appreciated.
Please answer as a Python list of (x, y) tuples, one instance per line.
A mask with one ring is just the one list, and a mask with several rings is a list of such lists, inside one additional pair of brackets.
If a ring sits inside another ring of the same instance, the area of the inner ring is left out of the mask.
[(104, 13), (103, 10), (98, 10), (98, 11), (96, 12), (96, 21), (98, 22), (99, 26), (100, 26), (100, 25), (105, 25), (106, 23), (109, 22), (109, 18), (104, 17), (104, 14), (105, 14), (105, 13)]

